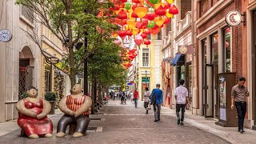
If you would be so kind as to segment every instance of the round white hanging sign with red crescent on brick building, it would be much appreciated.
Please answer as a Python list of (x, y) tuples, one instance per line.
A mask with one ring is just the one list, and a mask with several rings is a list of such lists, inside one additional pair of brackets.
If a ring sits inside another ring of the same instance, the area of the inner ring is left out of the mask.
[(230, 26), (238, 26), (241, 21), (241, 14), (237, 10), (232, 10), (226, 14), (226, 23)]

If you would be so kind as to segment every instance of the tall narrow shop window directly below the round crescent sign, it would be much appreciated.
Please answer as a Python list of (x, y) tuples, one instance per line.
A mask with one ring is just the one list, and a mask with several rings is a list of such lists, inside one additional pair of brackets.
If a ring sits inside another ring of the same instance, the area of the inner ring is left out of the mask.
[(230, 54), (230, 27), (226, 27), (223, 29), (223, 34), (224, 34), (224, 50), (223, 50), (223, 54), (224, 54), (224, 64), (225, 64), (225, 69), (226, 72), (230, 72), (231, 70), (231, 54)]

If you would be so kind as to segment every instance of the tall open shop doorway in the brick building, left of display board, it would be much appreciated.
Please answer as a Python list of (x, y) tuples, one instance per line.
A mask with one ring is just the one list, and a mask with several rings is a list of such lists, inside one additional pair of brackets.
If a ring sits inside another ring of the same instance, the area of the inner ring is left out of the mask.
[(205, 118), (218, 118), (218, 33), (210, 35), (210, 45), (203, 40), (202, 46), (202, 114)]

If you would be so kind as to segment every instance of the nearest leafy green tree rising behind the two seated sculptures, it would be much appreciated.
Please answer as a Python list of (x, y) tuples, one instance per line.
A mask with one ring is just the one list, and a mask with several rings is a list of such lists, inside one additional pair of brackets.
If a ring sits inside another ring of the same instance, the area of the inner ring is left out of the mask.
[[(110, 16), (97, 16), (100, 10), (104, 10), (105, 15), (111, 15), (109, 8), (112, 5), (109, 1), (17, 0), (16, 3), (33, 11), (34, 14), (31, 14), (31, 17), (34, 22), (46, 26), (62, 40), (68, 50), (68, 55), (62, 59), (61, 63), (58, 63), (57, 68), (70, 76), (72, 86), (75, 84), (75, 74), (78, 74), (84, 58), (93, 54), (98, 49), (98, 45), (110, 38), (113, 30), (118, 30), (118, 26), (107, 22)], [(41, 34), (37, 34), (36, 31), (28, 30), (27, 35), (38, 44), (47, 60), (40, 38), (38, 38)], [(83, 42), (85, 37), (88, 38), (89, 44), (87, 54), (83, 54), (84, 47), (77, 51), (74, 49), (74, 46), (78, 42)]]

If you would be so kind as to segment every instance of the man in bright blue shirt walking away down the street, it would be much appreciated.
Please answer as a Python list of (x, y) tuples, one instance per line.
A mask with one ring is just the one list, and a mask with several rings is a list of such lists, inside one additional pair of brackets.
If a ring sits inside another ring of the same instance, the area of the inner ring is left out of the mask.
[(156, 89), (152, 90), (150, 102), (154, 107), (154, 122), (160, 121), (160, 110), (162, 105), (162, 90), (160, 84), (156, 85)]

